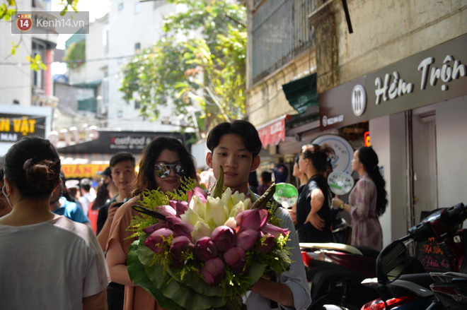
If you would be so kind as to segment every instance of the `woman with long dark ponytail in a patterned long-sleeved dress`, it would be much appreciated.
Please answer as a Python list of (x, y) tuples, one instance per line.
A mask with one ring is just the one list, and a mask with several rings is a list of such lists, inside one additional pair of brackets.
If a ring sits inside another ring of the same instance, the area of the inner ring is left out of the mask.
[(337, 196), (333, 207), (341, 208), (352, 217), (352, 245), (383, 249), (383, 231), (378, 217), (386, 210), (388, 200), (384, 181), (378, 168), (378, 155), (371, 147), (362, 146), (354, 152), (352, 170), (358, 172), (359, 180), (350, 192), (349, 203)]

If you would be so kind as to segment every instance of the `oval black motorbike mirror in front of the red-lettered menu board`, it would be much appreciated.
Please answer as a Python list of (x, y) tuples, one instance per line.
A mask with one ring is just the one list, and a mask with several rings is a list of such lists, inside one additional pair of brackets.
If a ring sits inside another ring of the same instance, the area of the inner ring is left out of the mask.
[(409, 252), (405, 244), (396, 240), (386, 246), (376, 258), (376, 276), (378, 282), (386, 285), (403, 273), (409, 263)]

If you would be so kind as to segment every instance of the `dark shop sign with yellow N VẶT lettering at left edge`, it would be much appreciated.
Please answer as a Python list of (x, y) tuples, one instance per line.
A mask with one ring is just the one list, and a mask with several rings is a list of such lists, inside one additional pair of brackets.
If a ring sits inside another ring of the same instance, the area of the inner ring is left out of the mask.
[(0, 142), (16, 142), (25, 136), (45, 138), (45, 117), (0, 114)]

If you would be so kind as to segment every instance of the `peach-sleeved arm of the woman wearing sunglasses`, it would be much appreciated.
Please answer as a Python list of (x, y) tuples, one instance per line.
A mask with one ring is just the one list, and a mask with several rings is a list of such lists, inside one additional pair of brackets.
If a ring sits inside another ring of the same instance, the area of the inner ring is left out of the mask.
[[(110, 237), (107, 246), (107, 264), (109, 267), (110, 278), (113, 282), (122, 285), (134, 286), (132, 280), (129, 279), (127, 270), (127, 253), (129, 251), (129, 244), (131, 240), (125, 240), (129, 236), (126, 231), (129, 222), (132, 218), (131, 204), (134, 201), (128, 201), (115, 213), (115, 217), (110, 227)], [(126, 251), (123, 247), (125, 246)]]

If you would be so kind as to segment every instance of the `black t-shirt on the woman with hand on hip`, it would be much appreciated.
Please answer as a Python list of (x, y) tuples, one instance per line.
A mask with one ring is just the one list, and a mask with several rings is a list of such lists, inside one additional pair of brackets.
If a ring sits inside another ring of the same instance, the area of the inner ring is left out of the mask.
[[(306, 217), (311, 210), (311, 192), (313, 189), (321, 189), (324, 195), (324, 203), (318, 211), (318, 215), (325, 221), (323, 230), (316, 229), (310, 222), (305, 223)], [(333, 233), (330, 229), (330, 189), (325, 177), (316, 174), (311, 177), (301, 190), (296, 202), (296, 228), (299, 233), (299, 242), (334, 242)]]

